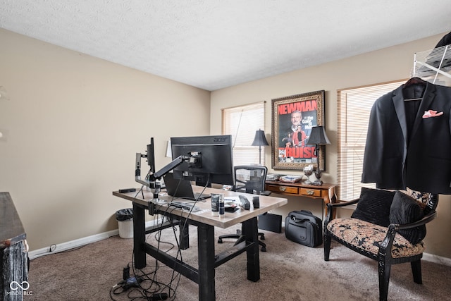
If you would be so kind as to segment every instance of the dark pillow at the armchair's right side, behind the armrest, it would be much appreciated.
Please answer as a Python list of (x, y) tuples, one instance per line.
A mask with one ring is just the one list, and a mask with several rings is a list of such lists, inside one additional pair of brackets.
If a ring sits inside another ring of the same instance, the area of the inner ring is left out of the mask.
[[(390, 223), (400, 225), (413, 223), (422, 219), (423, 216), (424, 212), (418, 201), (400, 191), (395, 193), (392, 206), (390, 207)], [(426, 236), (426, 225), (400, 230), (398, 233), (415, 245)]]

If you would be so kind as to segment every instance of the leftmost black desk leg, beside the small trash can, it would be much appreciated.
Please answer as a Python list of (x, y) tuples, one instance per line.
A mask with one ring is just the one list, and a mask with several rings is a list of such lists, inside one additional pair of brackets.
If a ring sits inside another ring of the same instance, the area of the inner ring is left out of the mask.
[(144, 207), (133, 202), (133, 255), (136, 269), (143, 269), (146, 266), (145, 240), (146, 222), (144, 219)]

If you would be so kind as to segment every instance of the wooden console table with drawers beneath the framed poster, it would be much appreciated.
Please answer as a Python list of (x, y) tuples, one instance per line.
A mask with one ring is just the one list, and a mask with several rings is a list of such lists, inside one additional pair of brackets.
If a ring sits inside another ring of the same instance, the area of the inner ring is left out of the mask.
[(265, 182), (265, 190), (278, 193), (280, 195), (323, 199), (323, 208), (326, 212), (324, 216), (327, 215), (327, 204), (337, 202), (335, 187), (337, 187), (337, 185), (328, 183), (323, 183), (323, 185), (308, 185), (302, 182), (289, 183), (268, 180)]

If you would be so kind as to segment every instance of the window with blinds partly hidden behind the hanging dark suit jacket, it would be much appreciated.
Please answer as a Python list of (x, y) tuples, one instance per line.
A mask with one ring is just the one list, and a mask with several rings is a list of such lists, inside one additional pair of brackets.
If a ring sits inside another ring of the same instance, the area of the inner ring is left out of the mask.
[(340, 199), (346, 201), (356, 199), (359, 197), (362, 187), (376, 187), (373, 183), (361, 183), (371, 107), (376, 99), (395, 90), (404, 82), (397, 81), (337, 91), (337, 178), (340, 187)]

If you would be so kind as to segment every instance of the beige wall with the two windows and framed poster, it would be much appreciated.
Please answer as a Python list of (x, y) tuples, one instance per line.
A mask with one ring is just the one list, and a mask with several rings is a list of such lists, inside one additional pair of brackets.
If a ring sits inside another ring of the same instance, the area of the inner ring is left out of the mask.
[[(443, 34), (445, 35), (445, 33)], [(326, 172), (323, 180), (336, 183), (337, 178), (337, 98), (338, 89), (371, 85), (378, 82), (403, 80), (411, 76), (414, 53), (432, 49), (443, 35), (436, 35), (416, 42), (381, 49), (367, 54), (304, 68), (283, 75), (236, 85), (211, 93), (211, 134), (221, 133), (221, 108), (266, 101), (265, 133), (271, 134), (271, 99), (293, 94), (326, 90), (326, 131), (331, 145), (326, 147)], [(271, 141), (271, 140), (268, 140)], [(266, 166), (271, 167), (271, 147), (265, 150)], [(295, 171), (271, 170), (273, 173), (302, 174)], [(419, 172), (421, 170), (419, 169)], [(321, 202), (307, 198), (292, 197), (288, 204), (276, 211), (284, 217), (294, 209), (307, 209), (321, 216)], [(451, 202), (449, 196), (440, 196), (438, 219), (428, 225), (426, 252), (451, 258), (451, 240), (443, 233), (451, 232)]]

